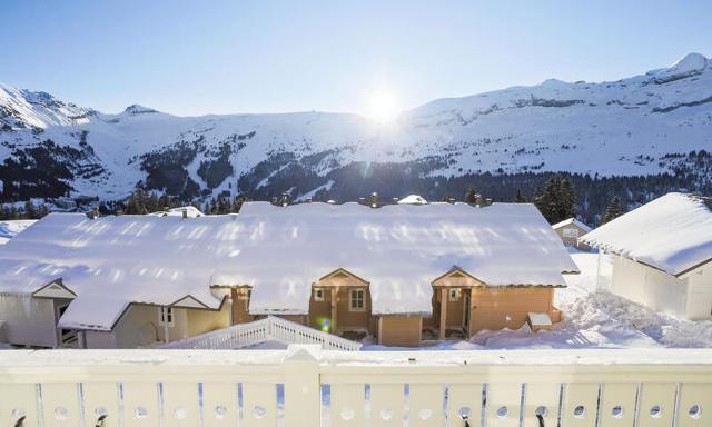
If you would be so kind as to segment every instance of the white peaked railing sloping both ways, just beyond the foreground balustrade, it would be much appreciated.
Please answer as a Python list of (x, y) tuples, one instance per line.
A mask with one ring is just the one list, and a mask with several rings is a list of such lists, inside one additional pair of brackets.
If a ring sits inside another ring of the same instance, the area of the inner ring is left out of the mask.
[(208, 334), (168, 342), (164, 349), (230, 350), (249, 347), (268, 340), (289, 344), (319, 344), (325, 350), (358, 351), (359, 342), (285, 320), (267, 317), (248, 324), (239, 324)]

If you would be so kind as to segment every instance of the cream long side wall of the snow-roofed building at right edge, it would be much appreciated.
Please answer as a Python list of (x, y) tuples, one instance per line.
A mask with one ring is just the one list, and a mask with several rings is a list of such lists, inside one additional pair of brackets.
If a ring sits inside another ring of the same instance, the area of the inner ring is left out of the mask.
[(612, 257), (609, 290), (654, 310), (686, 317), (688, 282), (621, 256)]

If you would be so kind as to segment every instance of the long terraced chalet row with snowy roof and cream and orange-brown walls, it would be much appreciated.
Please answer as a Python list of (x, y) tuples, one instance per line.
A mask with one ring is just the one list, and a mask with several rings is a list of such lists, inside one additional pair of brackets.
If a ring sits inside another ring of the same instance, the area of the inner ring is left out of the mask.
[(557, 321), (578, 272), (532, 205), (51, 214), (0, 248), (0, 340), (135, 348), (265, 316), (389, 346)]

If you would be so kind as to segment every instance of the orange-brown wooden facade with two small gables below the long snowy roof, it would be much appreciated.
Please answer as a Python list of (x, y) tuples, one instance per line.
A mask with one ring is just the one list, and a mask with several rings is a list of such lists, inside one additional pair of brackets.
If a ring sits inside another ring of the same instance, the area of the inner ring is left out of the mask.
[[(233, 324), (255, 320), (249, 314), (249, 288), (231, 288)], [(518, 329), (530, 312), (561, 320), (554, 307), (554, 287), (488, 287), (476, 277), (452, 270), (433, 281), (431, 316), (374, 315), (369, 282), (336, 269), (312, 285), (308, 315), (279, 316), (338, 336), (360, 339), (373, 336), (388, 346), (418, 346), (424, 330), (438, 339), (466, 339), (481, 330)]]

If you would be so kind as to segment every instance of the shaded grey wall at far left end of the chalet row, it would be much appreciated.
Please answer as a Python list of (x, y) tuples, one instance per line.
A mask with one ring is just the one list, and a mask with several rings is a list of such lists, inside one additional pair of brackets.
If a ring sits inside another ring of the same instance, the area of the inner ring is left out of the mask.
[(56, 302), (30, 295), (0, 294), (4, 340), (18, 346), (56, 347)]

